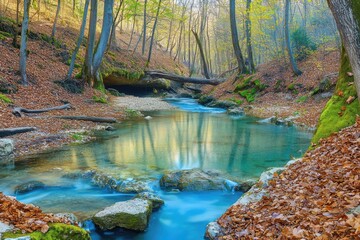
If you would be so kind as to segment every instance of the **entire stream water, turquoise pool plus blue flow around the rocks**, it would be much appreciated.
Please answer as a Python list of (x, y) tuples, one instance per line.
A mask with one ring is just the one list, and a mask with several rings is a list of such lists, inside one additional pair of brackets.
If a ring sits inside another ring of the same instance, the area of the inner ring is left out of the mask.
[[(95, 142), (48, 152), (0, 167), (0, 190), (30, 180), (46, 188), (18, 194), (48, 212), (73, 212), (86, 219), (106, 206), (131, 199), (65, 173), (95, 169), (120, 178), (158, 179), (167, 169), (217, 169), (239, 178), (258, 177), (269, 167), (286, 164), (307, 149), (311, 132), (275, 126), (259, 119), (231, 117), (223, 109), (206, 108), (190, 99), (169, 99), (179, 110), (148, 112), (150, 120), (120, 123), (114, 132), (98, 133)], [(93, 239), (202, 239), (208, 222), (219, 217), (241, 193), (226, 191), (162, 191), (165, 206), (154, 212), (146, 232), (100, 231), (90, 221)]]

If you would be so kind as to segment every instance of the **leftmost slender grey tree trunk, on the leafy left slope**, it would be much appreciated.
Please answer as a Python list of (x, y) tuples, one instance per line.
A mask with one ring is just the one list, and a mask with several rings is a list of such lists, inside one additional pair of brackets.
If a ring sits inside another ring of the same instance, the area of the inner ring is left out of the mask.
[(20, 46), (20, 74), (22, 84), (27, 86), (27, 76), (26, 76), (26, 45), (27, 45), (27, 30), (29, 26), (29, 9), (30, 9), (30, 0), (24, 0), (24, 17), (21, 28), (21, 46)]

